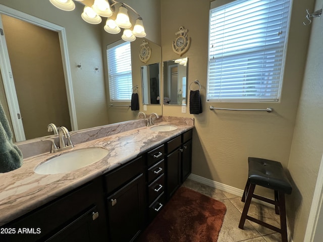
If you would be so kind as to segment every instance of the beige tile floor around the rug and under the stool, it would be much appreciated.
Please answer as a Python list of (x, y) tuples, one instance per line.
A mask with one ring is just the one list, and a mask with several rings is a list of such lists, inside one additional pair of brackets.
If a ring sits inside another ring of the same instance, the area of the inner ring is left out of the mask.
[[(219, 234), (218, 242), (274, 242), (281, 241), (281, 234), (271, 229), (260, 226), (254, 222), (246, 220), (244, 229), (238, 227), (244, 203), (241, 197), (223, 192), (219, 189), (211, 188), (196, 181), (187, 179), (184, 187), (190, 188), (201, 194), (223, 202), (227, 206), (223, 225)], [(275, 209), (251, 202), (248, 215), (263, 220), (274, 226), (280, 227), (279, 215), (275, 214)]]

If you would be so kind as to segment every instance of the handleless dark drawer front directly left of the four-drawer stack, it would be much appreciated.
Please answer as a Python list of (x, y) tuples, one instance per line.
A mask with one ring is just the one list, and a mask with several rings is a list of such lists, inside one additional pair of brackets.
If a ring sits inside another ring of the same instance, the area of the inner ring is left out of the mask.
[(115, 189), (127, 183), (130, 179), (143, 172), (144, 158), (142, 156), (129, 161), (121, 167), (111, 171), (104, 176), (106, 193), (111, 193)]

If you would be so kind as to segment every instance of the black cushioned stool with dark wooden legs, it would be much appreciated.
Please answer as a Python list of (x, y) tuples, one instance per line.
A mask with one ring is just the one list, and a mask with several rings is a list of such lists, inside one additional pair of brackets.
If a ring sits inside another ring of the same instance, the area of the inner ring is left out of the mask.
[[(292, 193), (292, 186), (286, 177), (282, 164), (278, 161), (248, 157), (248, 165), (248, 180), (241, 199), (242, 202), (245, 202), (245, 205), (240, 218), (239, 228), (243, 229), (243, 225), (246, 219), (248, 219), (281, 233), (282, 241), (287, 242), (285, 194)], [(256, 185), (273, 189), (275, 191), (275, 200), (253, 194)], [(247, 215), (252, 198), (275, 205), (275, 212), (280, 215), (280, 228)]]

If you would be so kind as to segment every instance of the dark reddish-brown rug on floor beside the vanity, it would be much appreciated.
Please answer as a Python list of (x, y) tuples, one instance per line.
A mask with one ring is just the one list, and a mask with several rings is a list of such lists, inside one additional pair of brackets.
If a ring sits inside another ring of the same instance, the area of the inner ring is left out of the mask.
[(217, 200), (181, 187), (138, 242), (216, 242), (226, 206)]

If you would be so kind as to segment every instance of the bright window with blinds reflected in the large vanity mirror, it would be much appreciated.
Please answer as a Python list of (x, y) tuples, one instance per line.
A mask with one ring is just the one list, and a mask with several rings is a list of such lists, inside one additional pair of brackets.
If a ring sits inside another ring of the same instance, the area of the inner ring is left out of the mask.
[(130, 42), (117, 41), (106, 48), (111, 101), (129, 101), (132, 93)]

